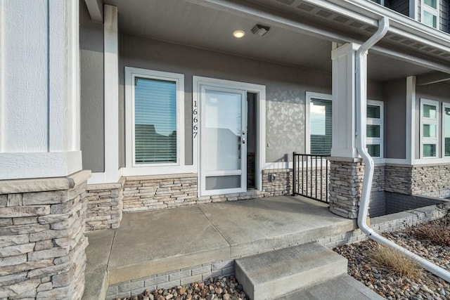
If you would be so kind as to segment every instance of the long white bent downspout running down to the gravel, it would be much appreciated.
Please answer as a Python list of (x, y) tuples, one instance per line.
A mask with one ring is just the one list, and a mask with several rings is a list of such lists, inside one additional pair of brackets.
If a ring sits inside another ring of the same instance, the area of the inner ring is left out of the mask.
[(383, 17), (378, 21), (378, 30), (373, 34), (373, 36), (368, 39), (364, 44), (362, 44), (359, 49), (356, 51), (356, 149), (358, 150), (359, 155), (361, 155), (364, 160), (364, 181), (361, 193), (361, 200), (359, 202), (359, 213), (358, 213), (358, 226), (363, 233), (365, 233), (369, 238), (379, 242), (381, 244), (385, 244), (388, 247), (393, 249), (397, 249), (406, 256), (409, 256), (411, 259), (417, 261), (420, 266), (423, 266), (426, 270), (429, 270), (431, 273), (439, 276), (440, 278), (446, 280), (446, 282), (450, 282), (450, 272), (444, 270), (443, 268), (436, 266), (434, 263), (423, 259), (422, 257), (414, 254), (413, 252), (400, 247), (398, 244), (387, 240), (387, 238), (382, 237), (378, 233), (375, 233), (372, 228), (367, 226), (367, 211), (368, 204), (371, 196), (371, 187), (372, 187), (372, 179), (373, 179), (373, 159), (368, 152), (366, 151), (366, 104), (367, 104), (367, 74), (366, 74), (366, 53), (369, 48), (375, 45), (380, 39), (382, 39), (387, 29), (389, 28), (389, 19), (387, 17)]

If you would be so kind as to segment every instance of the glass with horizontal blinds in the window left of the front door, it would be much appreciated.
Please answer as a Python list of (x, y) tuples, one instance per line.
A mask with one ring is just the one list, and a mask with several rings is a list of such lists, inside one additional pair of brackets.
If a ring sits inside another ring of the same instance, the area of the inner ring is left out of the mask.
[(176, 82), (135, 77), (136, 164), (176, 162)]

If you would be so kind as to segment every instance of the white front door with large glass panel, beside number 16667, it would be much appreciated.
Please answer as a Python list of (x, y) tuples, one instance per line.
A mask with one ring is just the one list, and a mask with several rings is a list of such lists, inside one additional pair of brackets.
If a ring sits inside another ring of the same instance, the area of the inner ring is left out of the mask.
[(202, 195), (247, 189), (246, 91), (201, 86), (200, 190)]

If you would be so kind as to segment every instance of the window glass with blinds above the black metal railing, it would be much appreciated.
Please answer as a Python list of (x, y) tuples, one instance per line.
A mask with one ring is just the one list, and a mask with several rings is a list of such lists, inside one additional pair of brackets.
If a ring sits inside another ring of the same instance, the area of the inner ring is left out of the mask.
[(311, 154), (330, 155), (332, 133), (332, 103), (330, 100), (311, 99), (309, 110)]

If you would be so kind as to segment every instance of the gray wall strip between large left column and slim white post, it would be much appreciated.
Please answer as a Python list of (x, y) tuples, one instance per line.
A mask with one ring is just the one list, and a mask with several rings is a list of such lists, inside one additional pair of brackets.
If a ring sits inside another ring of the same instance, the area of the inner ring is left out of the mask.
[(79, 65), (83, 169), (103, 172), (103, 24), (91, 22), (84, 1), (79, 4)]

